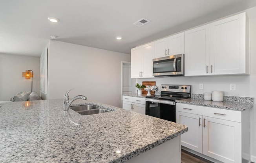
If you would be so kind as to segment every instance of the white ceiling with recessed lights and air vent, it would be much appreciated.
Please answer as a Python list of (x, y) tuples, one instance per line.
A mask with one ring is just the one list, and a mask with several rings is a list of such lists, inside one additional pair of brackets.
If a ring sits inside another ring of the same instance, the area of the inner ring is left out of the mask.
[[(130, 54), (136, 45), (254, 6), (256, 0), (1, 0), (0, 53), (40, 56), (55, 35)], [(49, 22), (50, 16), (60, 22)], [(141, 18), (151, 22), (133, 25)]]

